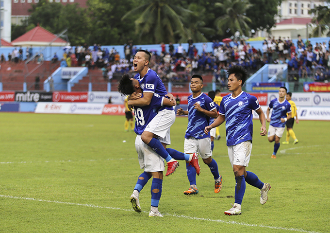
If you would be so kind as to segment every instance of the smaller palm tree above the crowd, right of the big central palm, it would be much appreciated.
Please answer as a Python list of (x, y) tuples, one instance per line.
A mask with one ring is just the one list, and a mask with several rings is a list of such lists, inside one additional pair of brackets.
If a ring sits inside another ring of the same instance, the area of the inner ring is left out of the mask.
[(234, 35), (236, 31), (241, 35), (249, 34), (250, 28), (247, 22), (251, 22), (251, 19), (245, 16), (245, 12), (252, 5), (248, 0), (224, 0), (223, 3), (216, 2), (214, 6), (221, 7), (226, 12), (214, 21), (219, 35), (224, 35), (226, 32)]

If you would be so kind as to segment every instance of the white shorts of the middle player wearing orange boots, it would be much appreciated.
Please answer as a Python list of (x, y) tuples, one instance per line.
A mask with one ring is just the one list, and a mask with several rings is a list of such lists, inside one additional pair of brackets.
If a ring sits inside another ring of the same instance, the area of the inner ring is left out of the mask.
[(196, 139), (194, 137), (190, 137), (189, 139), (184, 139), (184, 153), (192, 154), (198, 153), (202, 159), (207, 159), (212, 156), (211, 149), (211, 139), (210, 138), (202, 138)]

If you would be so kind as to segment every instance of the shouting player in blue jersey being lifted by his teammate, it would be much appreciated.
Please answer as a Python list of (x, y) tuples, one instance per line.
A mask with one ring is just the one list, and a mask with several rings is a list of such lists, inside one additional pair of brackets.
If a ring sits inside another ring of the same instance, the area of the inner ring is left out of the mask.
[[(137, 72), (134, 79), (139, 81), (143, 96), (142, 93), (132, 93), (128, 98), (129, 105), (148, 106), (154, 95), (169, 96), (170, 100), (175, 102), (173, 95), (167, 93), (164, 83), (157, 73), (149, 69), (150, 58), (151, 54), (146, 50), (139, 50), (134, 56), (133, 67), (134, 72)], [(159, 109), (158, 114), (150, 121), (141, 135), (142, 141), (166, 160), (167, 172), (165, 176), (171, 175), (179, 166), (179, 162), (174, 160), (165, 150), (166, 145), (171, 143), (170, 127), (174, 122), (174, 108), (164, 106)]]

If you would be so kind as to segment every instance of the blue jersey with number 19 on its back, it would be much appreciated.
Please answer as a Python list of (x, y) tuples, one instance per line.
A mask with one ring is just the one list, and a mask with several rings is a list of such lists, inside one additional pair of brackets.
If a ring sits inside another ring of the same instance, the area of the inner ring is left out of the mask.
[(148, 106), (134, 106), (136, 134), (142, 134), (149, 122), (157, 115), (159, 109), (163, 106), (164, 96), (154, 94)]

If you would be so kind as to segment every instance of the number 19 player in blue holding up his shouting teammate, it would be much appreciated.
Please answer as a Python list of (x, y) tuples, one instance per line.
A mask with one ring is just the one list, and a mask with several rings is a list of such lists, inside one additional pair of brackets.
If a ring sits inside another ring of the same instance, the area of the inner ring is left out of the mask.
[[(133, 92), (142, 93), (139, 82), (136, 79), (130, 78), (129, 75), (123, 75), (123, 77), (119, 80), (118, 91), (123, 95), (129, 95)], [(136, 182), (130, 201), (133, 209), (136, 212), (141, 212), (139, 193), (147, 184), (148, 180), (153, 177), (151, 184), (151, 208), (149, 216), (163, 216), (158, 211), (158, 204), (162, 194), (163, 171), (165, 170), (165, 167), (164, 159), (142, 141), (141, 134), (144, 132), (149, 122), (157, 115), (159, 108), (164, 105), (174, 106), (175, 103), (164, 96), (154, 95), (152, 96), (148, 106), (128, 106), (130, 109), (132, 107), (134, 109), (134, 116), (136, 120), (134, 131), (137, 134), (135, 139), (135, 149), (138, 153), (140, 167), (141, 169), (144, 169), (144, 172), (139, 176)], [(167, 148), (166, 150), (176, 159), (190, 161), (194, 164), (194, 166), (199, 168), (196, 155), (183, 154), (170, 148)]]

